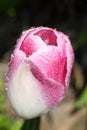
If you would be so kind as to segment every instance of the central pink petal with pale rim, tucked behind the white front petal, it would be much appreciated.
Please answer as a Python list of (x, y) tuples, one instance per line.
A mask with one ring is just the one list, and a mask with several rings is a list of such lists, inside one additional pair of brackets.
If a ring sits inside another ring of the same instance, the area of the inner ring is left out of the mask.
[(47, 78), (65, 85), (66, 55), (55, 46), (40, 49), (28, 58)]

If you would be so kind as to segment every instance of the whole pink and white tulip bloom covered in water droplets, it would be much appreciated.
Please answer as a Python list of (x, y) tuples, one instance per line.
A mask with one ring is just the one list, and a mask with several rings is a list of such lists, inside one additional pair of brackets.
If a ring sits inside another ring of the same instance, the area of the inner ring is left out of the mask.
[(69, 86), (74, 53), (67, 35), (47, 27), (22, 33), (6, 74), (9, 101), (23, 118), (59, 105)]

